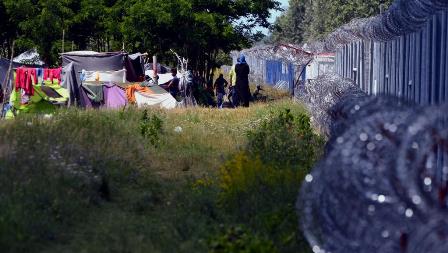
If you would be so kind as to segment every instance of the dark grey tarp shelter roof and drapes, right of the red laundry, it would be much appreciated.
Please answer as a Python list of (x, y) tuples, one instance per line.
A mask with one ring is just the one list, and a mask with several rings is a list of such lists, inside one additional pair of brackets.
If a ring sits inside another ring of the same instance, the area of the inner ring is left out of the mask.
[[(124, 52), (98, 53), (77, 51), (62, 54), (63, 81), (62, 86), (70, 91), (69, 106), (88, 107), (86, 90), (82, 87), (81, 73), (125, 71), (128, 82), (142, 81), (144, 76), (143, 54), (128, 55)], [(98, 78), (95, 81), (116, 82), (110, 78)], [(101, 80), (100, 80), (101, 79)]]

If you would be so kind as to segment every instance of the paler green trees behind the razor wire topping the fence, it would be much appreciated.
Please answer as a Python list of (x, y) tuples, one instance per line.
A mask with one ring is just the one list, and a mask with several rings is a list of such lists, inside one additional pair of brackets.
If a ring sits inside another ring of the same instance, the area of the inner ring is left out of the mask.
[(277, 19), (271, 40), (300, 44), (322, 39), (354, 18), (380, 12), (392, 0), (290, 0), (289, 8)]

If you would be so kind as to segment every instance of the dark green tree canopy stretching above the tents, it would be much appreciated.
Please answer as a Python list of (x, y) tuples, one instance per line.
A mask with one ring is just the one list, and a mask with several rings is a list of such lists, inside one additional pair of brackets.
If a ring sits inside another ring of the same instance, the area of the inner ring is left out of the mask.
[(169, 61), (173, 49), (205, 72), (221, 53), (259, 39), (253, 28), (269, 27), (273, 9), (276, 0), (0, 0), (0, 55), (13, 41), (18, 52), (36, 47), (49, 65), (62, 50), (124, 45)]

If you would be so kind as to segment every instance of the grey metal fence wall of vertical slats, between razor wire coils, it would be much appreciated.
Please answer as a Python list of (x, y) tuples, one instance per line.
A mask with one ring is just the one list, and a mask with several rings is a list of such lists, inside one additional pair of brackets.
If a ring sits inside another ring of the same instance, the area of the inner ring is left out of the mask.
[(359, 40), (337, 50), (336, 72), (369, 94), (434, 105), (448, 101), (448, 11), (418, 32), (387, 42)]

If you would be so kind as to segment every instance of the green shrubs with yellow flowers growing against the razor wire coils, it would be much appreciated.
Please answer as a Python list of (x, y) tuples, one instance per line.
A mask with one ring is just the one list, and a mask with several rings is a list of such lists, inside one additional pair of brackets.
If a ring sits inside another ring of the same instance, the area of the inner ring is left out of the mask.
[(308, 252), (294, 203), (322, 143), (306, 115), (289, 110), (271, 115), (249, 131), (246, 150), (220, 169), (219, 204), (234, 222), (269, 238), (278, 251)]

